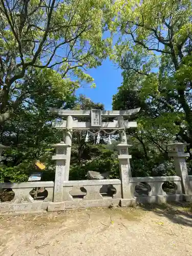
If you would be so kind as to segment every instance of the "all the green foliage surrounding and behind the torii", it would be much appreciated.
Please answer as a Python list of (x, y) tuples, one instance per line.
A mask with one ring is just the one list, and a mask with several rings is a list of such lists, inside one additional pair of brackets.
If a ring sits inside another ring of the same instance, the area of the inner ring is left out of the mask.
[[(167, 152), (175, 139), (190, 143), (190, 168), (191, 28), (190, 0), (51, 0), (44, 6), (41, 0), (2, 1), (0, 134), (11, 148), (1, 164), (1, 181), (26, 181), (35, 160), (46, 165), (42, 179), (54, 180), (51, 145), (62, 134), (52, 130), (56, 117), (49, 108), (103, 110), (101, 103), (76, 97), (75, 90), (85, 83), (95, 87), (86, 69), (107, 56), (123, 70), (113, 109), (141, 108), (138, 128), (127, 131), (134, 144), (133, 176), (173, 175)], [(113, 52), (113, 38), (103, 38), (108, 30), (119, 36)], [(84, 131), (73, 133), (70, 179), (86, 179), (88, 170), (111, 170), (110, 178), (118, 178), (115, 145), (95, 145), (94, 136), (85, 143), (85, 137)]]

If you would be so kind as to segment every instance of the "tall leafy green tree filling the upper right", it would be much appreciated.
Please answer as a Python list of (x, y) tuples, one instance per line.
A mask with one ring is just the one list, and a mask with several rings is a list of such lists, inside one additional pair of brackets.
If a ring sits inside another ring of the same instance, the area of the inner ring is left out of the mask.
[(190, 0), (117, 1), (112, 7), (109, 27), (119, 40), (111, 58), (123, 69), (113, 109), (140, 106), (137, 138), (163, 150), (172, 139), (192, 145), (191, 7)]

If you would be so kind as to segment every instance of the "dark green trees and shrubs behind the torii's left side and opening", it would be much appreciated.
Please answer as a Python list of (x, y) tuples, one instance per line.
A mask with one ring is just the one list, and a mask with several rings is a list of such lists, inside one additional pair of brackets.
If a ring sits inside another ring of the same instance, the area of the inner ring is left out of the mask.
[[(6, 160), (1, 165), (1, 181), (11, 182), (28, 181), (30, 174), (38, 172), (35, 161), (44, 163), (46, 168), (42, 171), (42, 181), (52, 181), (55, 178), (55, 161), (52, 161), (54, 149), (52, 144), (62, 140), (62, 132), (52, 129), (51, 122), (55, 116), (49, 112), (53, 106), (70, 109), (104, 109), (103, 104), (94, 103), (83, 95), (79, 97), (71, 94), (65, 100), (55, 90), (49, 90), (52, 81), (48, 81), (45, 73), (36, 76), (33, 87), (42, 88), (41, 94), (34, 94), (27, 100), (27, 104), (18, 109), (18, 115), (7, 120), (1, 126), (1, 143), (10, 145), (3, 155)], [(45, 79), (39, 80), (39, 77)], [(46, 90), (46, 93), (44, 93)], [(54, 92), (54, 93), (53, 93)], [(113, 152), (104, 145), (94, 144), (93, 136), (89, 143), (85, 143), (86, 133), (73, 133), (70, 179), (87, 179), (88, 170), (96, 169), (106, 172), (114, 169)], [(106, 161), (105, 161), (106, 160)]]

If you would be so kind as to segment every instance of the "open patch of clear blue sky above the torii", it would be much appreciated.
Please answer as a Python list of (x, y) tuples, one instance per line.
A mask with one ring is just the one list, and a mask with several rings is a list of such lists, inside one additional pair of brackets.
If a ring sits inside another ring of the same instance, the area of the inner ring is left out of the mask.
[(111, 110), (112, 97), (122, 82), (121, 72), (108, 58), (100, 67), (87, 71), (94, 78), (96, 88), (79, 88), (77, 94), (84, 94), (94, 102), (103, 103), (105, 110)]

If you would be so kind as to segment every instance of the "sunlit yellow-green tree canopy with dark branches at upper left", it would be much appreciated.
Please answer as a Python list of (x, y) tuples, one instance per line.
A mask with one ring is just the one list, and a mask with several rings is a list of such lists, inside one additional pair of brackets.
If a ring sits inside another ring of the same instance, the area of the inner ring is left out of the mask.
[(110, 0), (0, 3), (1, 124), (34, 94), (51, 90), (66, 100), (84, 83), (95, 87), (84, 71), (111, 52), (112, 38), (102, 37), (110, 6)]

